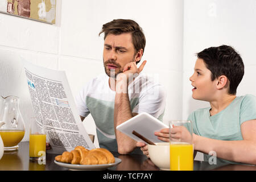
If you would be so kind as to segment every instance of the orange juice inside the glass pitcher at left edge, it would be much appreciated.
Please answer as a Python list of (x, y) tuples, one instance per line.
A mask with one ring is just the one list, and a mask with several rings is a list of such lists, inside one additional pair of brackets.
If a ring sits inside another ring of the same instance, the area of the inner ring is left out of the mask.
[(0, 135), (5, 147), (16, 146), (24, 137), (24, 130), (0, 130)]

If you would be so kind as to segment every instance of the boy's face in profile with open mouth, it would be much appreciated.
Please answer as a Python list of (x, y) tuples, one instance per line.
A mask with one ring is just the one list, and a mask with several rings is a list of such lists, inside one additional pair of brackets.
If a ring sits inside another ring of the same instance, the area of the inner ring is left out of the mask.
[(194, 87), (192, 89), (192, 97), (196, 100), (211, 101), (214, 93), (216, 93), (216, 87), (214, 86), (214, 81), (211, 78), (212, 72), (204, 64), (203, 59), (197, 59), (194, 73), (189, 78), (191, 85)]

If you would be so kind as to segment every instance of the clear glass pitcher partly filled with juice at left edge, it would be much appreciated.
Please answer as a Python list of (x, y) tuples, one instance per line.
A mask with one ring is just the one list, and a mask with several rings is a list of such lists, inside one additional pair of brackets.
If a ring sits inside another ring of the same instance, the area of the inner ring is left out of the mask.
[(0, 97), (0, 135), (7, 150), (18, 150), (18, 143), (23, 139), (24, 121), (19, 110), (19, 97)]

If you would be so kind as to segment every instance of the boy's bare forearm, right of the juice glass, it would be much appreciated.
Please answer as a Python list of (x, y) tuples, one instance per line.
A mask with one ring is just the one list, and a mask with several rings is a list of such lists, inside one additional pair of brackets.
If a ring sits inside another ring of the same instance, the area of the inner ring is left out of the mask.
[(256, 164), (256, 144), (250, 140), (216, 140), (194, 135), (195, 150), (209, 154), (216, 152), (217, 158), (247, 164)]

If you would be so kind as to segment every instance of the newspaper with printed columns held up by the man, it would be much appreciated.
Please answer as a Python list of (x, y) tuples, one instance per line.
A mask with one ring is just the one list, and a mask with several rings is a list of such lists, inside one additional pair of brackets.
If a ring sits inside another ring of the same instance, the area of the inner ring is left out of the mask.
[(51, 144), (47, 152), (61, 154), (76, 146), (95, 148), (82, 125), (65, 72), (24, 62), (32, 108)]

